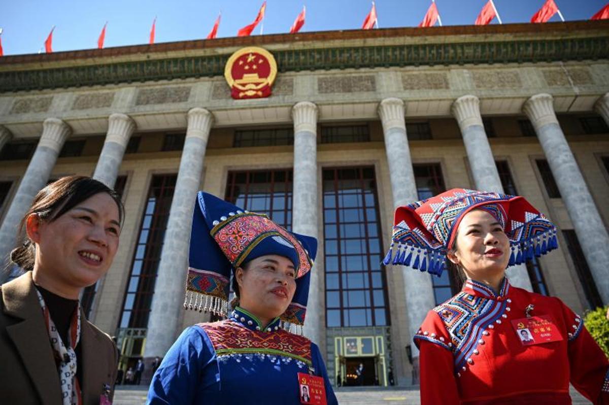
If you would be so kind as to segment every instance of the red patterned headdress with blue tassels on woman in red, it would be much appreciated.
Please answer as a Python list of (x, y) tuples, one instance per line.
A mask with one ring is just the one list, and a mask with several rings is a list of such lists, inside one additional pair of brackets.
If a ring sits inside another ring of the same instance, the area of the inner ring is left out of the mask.
[(512, 248), (508, 267), (558, 248), (554, 224), (524, 197), (454, 188), (396, 208), (391, 247), (383, 263), (442, 275), (459, 223), (474, 208), (502, 224)]

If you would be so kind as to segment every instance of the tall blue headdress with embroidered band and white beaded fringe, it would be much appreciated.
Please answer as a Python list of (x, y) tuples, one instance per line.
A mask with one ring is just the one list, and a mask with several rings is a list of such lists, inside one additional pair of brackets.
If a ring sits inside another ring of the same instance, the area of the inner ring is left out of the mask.
[(302, 326), (317, 239), (287, 231), (264, 214), (199, 191), (192, 217), (185, 309), (227, 316), (231, 274), (244, 262), (279, 255), (294, 263), (296, 292), (281, 320)]

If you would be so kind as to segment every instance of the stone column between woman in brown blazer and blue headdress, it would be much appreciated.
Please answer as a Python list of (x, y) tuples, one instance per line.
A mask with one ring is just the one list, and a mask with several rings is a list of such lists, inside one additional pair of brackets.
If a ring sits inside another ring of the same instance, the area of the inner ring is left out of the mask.
[(205, 108), (192, 108), (188, 111), (188, 129), (148, 321), (144, 351), (146, 357), (163, 357), (181, 332), (178, 331), (178, 321), (179, 312), (183, 311), (192, 210), (201, 183), (212, 122), (213, 115)]

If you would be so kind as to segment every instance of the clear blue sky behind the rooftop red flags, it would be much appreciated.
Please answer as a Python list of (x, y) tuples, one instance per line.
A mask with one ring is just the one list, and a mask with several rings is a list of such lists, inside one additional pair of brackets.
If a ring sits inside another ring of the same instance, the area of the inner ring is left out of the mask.
[[(525, 23), (545, 0), (495, 0), (503, 23)], [(589, 19), (607, 0), (555, 0), (567, 21)], [(442, 23), (473, 24), (487, 0), (436, 0)], [(32, 54), (43, 47), (52, 26), (53, 50), (96, 48), (108, 21), (105, 48), (147, 43), (157, 16), (156, 42), (205, 38), (222, 12), (218, 37), (234, 37), (251, 23), (262, 0), (0, 0), (0, 27), (5, 55)], [(306, 5), (301, 32), (358, 29), (370, 0), (267, 0), (264, 33), (287, 33)], [(379, 26), (414, 27), (431, 0), (376, 0)], [(560, 21), (555, 15), (550, 21)], [(492, 24), (496, 24), (496, 19)], [(260, 26), (254, 31), (259, 35)]]

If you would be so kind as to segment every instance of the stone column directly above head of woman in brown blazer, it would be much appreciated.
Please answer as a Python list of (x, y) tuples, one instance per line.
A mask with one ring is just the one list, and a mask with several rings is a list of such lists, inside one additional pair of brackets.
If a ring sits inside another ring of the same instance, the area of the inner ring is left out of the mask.
[(93, 178), (114, 188), (118, 169), (121, 167), (122, 157), (133, 130), (135, 130), (135, 122), (129, 116), (114, 113), (108, 117), (108, 132), (104, 149), (97, 160)]

